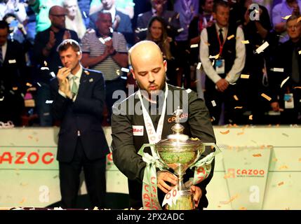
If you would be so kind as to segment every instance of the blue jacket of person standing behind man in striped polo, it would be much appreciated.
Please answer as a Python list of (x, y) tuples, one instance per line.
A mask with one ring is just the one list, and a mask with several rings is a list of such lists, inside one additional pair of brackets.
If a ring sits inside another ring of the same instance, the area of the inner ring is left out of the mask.
[[(123, 36), (126, 38), (127, 43), (133, 43), (133, 29), (132, 29), (132, 23), (131, 23), (131, 18), (124, 14), (121, 13), (121, 11), (116, 10), (116, 15), (119, 15), (120, 17), (120, 22), (119, 26), (115, 31), (123, 34)], [(98, 12), (93, 13), (90, 15), (90, 23), (89, 23), (89, 28), (91, 29), (97, 29), (96, 27), (96, 21), (98, 20)]]

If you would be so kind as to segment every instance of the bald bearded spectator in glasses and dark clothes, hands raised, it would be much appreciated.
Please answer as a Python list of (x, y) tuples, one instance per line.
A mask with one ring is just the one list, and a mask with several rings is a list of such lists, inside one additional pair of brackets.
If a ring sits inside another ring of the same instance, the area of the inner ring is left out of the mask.
[[(51, 97), (49, 86), (49, 82), (53, 78), (51, 72), (58, 73), (58, 67), (62, 66), (56, 48), (65, 39), (72, 38), (74, 41), (79, 41), (75, 31), (65, 29), (65, 15), (65, 8), (61, 6), (51, 7), (48, 15), (51, 26), (38, 32), (34, 40), (34, 58), (39, 69), (38, 81), (41, 84), (37, 92), (36, 106), (40, 125), (44, 127), (53, 125), (51, 104), (45, 103)], [(40, 69), (44, 66), (47, 66), (49, 70)]]

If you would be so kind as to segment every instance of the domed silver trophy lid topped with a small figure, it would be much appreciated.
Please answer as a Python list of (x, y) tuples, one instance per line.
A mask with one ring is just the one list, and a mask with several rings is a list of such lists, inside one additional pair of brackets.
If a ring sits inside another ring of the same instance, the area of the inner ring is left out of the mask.
[(167, 139), (163, 139), (159, 141), (156, 146), (163, 147), (163, 148), (197, 148), (198, 146), (201, 146), (203, 143), (199, 139), (193, 139), (189, 138), (188, 135), (183, 134), (183, 131), (185, 127), (180, 124), (180, 116), (182, 115), (183, 110), (180, 109), (180, 106), (178, 106), (178, 109), (173, 113), (175, 115), (175, 125), (171, 127), (171, 130), (173, 130), (173, 134), (168, 135)]

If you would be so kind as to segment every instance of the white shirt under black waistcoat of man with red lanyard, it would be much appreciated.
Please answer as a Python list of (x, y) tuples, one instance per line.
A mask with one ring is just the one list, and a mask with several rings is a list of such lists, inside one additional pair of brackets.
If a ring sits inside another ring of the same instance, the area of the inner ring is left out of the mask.
[[(219, 29), (218, 25), (215, 23), (215, 28), (218, 31)], [(224, 37), (224, 40), (227, 41), (227, 32), (228, 27), (222, 27), (222, 34)], [(229, 73), (226, 76), (226, 80), (229, 83), (235, 83), (236, 80), (241, 75), (241, 71), (243, 70), (243, 67), (245, 66), (246, 61), (246, 47), (241, 41), (244, 40), (243, 36), (243, 30), (241, 27), (237, 27), (236, 29), (236, 58), (234, 60), (234, 64), (232, 65), (232, 69), (230, 69)], [(218, 80), (220, 80), (220, 76), (215, 71), (215, 68), (212, 66), (212, 62), (209, 59), (209, 48), (208, 48), (208, 42), (210, 44), (210, 41), (208, 41), (208, 33), (207, 29), (203, 29), (201, 31), (201, 43), (200, 43), (200, 58), (201, 63), (203, 65), (203, 70), (205, 71), (206, 75), (213, 80), (213, 83), (217, 83)], [(214, 56), (214, 55), (211, 55)]]

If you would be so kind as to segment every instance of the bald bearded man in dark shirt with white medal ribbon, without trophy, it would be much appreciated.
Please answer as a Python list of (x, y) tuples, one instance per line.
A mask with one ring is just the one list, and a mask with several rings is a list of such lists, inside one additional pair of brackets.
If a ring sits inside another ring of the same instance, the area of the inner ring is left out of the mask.
[[(166, 83), (167, 63), (156, 43), (141, 41), (135, 44), (130, 50), (130, 60), (133, 66), (131, 73), (139, 90), (113, 106), (112, 149), (114, 164), (128, 177), (129, 206), (140, 209), (143, 207), (142, 181), (146, 163), (138, 155), (138, 151), (143, 144), (154, 144), (172, 134), (171, 127), (175, 124), (173, 111), (178, 106), (184, 111), (180, 120), (185, 127), (184, 134), (198, 137), (203, 142), (215, 142), (215, 136), (208, 110), (203, 100), (198, 99), (196, 92)], [(152, 125), (145, 125), (145, 122)], [(210, 149), (202, 156), (209, 153)], [(212, 176), (213, 169), (205, 181), (191, 188), (195, 205), (199, 209), (208, 206), (206, 185)], [(193, 173), (189, 169), (184, 181), (190, 177), (193, 177)], [(160, 204), (163, 196), (176, 183), (177, 178), (170, 172), (157, 173)]]

